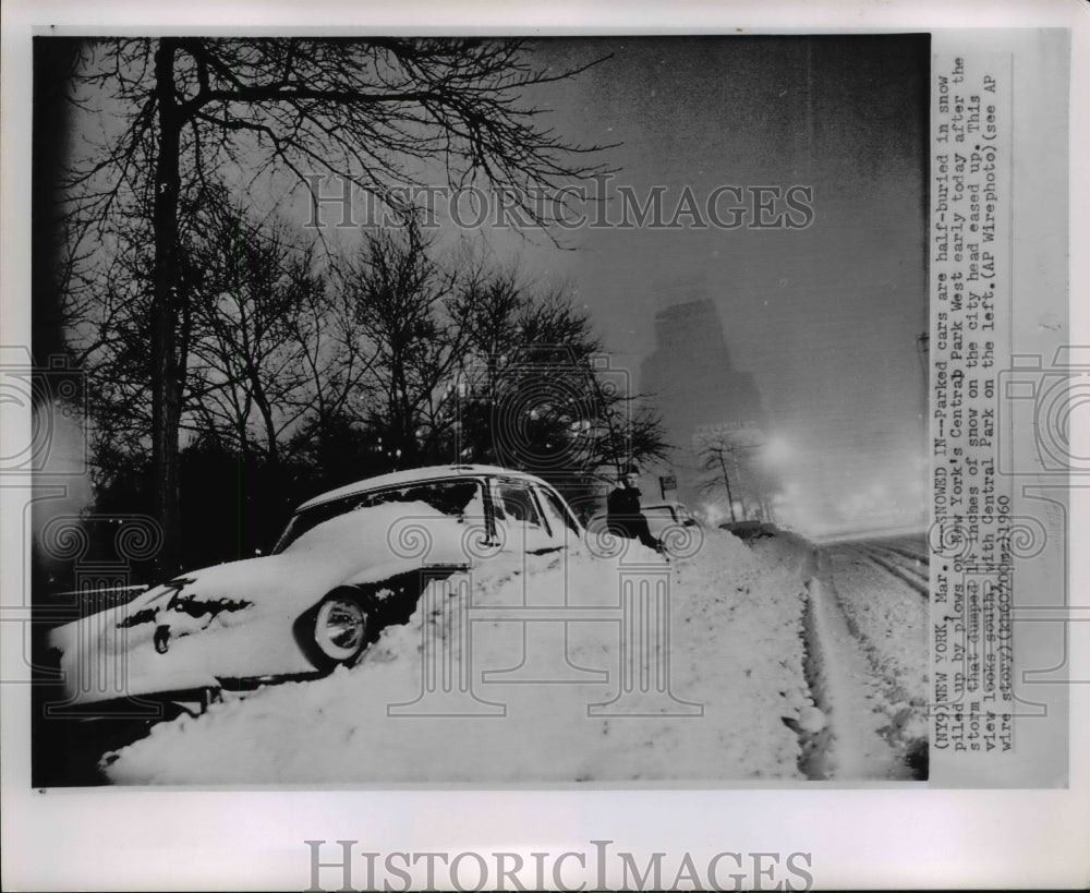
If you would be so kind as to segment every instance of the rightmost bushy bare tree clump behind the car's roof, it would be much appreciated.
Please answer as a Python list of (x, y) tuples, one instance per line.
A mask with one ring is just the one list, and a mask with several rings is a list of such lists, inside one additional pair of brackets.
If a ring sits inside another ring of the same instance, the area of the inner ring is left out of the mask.
[(661, 420), (642, 405), (590, 318), (564, 290), (538, 293), (518, 270), (471, 268), (451, 312), (463, 334), (463, 456), (557, 479), (664, 458)]

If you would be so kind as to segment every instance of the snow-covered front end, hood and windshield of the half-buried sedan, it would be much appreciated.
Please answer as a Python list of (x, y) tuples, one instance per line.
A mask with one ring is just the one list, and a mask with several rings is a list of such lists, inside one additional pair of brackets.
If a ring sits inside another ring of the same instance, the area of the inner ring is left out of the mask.
[(73, 693), (81, 701), (305, 672), (313, 667), (292, 639), (300, 614), (344, 583), (464, 562), (473, 532), (423, 503), (358, 509), (280, 554), (181, 574), (125, 605), (59, 627), (50, 645), (61, 652), (65, 676), (78, 677)]

